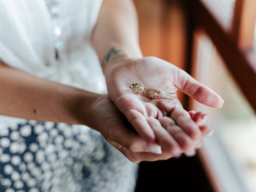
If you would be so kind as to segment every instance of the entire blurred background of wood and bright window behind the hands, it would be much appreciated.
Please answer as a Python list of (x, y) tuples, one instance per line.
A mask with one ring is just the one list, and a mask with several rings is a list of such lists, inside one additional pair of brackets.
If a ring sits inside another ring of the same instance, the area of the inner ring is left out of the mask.
[(256, 192), (256, 0), (134, 0), (144, 56), (186, 70), (224, 99), (194, 157), (142, 162), (141, 191)]

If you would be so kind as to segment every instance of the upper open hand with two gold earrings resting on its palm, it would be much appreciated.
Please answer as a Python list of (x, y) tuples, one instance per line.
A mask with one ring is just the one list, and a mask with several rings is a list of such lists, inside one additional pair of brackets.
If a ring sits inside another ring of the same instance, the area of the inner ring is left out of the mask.
[[(211, 107), (221, 107), (224, 102), (184, 70), (155, 57), (115, 59), (105, 68), (104, 74), (110, 99), (148, 143), (162, 142), (161, 146), (168, 146), (170, 138), (157, 138), (156, 135), (160, 135), (158, 131), (169, 132), (168, 136), (189, 151), (195, 146), (192, 143), (202, 138), (200, 127), (177, 99), (177, 90)], [(144, 85), (142, 94), (136, 95), (129, 88), (134, 83)], [(160, 90), (160, 97), (148, 99), (145, 95), (148, 89)]]

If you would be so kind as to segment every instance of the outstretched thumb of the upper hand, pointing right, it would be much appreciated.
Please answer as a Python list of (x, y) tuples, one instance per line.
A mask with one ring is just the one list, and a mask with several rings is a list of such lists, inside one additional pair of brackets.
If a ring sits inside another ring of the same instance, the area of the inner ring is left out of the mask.
[(178, 90), (194, 98), (198, 102), (210, 107), (221, 108), (224, 100), (207, 86), (192, 78), (184, 70), (178, 69), (178, 82), (175, 83)]

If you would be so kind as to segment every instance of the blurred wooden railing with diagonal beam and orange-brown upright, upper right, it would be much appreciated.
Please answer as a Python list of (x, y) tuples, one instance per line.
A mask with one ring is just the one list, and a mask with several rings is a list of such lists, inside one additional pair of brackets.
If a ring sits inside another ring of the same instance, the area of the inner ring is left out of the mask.
[[(192, 43), (189, 43), (193, 42), (192, 34), (194, 30), (202, 28), (211, 38), (229, 72), (256, 111), (256, 50), (253, 46), (256, 1), (236, 0), (231, 21), (227, 21), (229, 17), (225, 12), (216, 12), (212, 2), (214, 1), (183, 0), (190, 25), (187, 58), (192, 58), (191, 54), (195, 52)], [(230, 23), (230, 26), (227, 26), (227, 23)], [(191, 71), (192, 60), (188, 60), (187, 66), (188, 71)]]

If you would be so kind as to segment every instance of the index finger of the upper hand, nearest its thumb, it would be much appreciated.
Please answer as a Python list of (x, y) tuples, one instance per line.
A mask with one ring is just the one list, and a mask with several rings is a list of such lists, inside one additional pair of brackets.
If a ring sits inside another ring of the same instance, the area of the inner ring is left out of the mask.
[(170, 117), (180, 126), (187, 134), (195, 140), (200, 140), (202, 134), (196, 123), (192, 120), (188, 112), (184, 109), (175, 109)]

